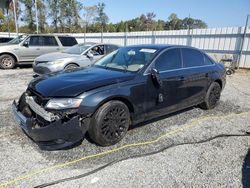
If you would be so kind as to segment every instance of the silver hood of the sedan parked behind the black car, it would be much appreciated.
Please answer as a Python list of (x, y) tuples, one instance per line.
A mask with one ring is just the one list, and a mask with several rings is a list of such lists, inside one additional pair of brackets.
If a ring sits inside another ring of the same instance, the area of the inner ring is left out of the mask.
[[(35, 61), (40, 62), (48, 62), (48, 61), (55, 61), (58, 59), (64, 59), (64, 58), (83, 58), (85, 56), (82, 55), (76, 55), (76, 54), (68, 54), (68, 53), (62, 53), (62, 52), (55, 52), (55, 53), (48, 53), (41, 55), (35, 59)], [(87, 58), (87, 57), (85, 57)]]

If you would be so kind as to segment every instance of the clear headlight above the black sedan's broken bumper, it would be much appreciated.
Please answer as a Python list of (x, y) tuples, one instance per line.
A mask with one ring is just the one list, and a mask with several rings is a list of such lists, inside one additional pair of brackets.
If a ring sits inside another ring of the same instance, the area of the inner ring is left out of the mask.
[(46, 104), (45, 108), (54, 110), (78, 108), (81, 102), (82, 99), (71, 99), (71, 98), (50, 99), (49, 102)]

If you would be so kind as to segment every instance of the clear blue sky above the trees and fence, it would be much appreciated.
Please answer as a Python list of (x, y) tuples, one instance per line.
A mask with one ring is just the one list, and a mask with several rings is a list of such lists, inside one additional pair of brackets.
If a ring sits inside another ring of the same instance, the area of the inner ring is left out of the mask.
[[(83, 6), (106, 4), (109, 21), (116, 23), (154, 12), (156, 19), (167, 20), (171, 13), (179, 18), (205, 21), (208, 27), (244, 26), (250, 14), (250, 0), (83, 0)], [(249, 18), (250, 19), (250, 18)], [(249, 21), (250, 25), (250, 21)]]

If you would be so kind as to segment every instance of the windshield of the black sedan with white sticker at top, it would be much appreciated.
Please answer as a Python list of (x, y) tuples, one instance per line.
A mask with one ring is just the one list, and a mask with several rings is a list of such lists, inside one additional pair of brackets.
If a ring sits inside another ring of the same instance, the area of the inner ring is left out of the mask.
[(137, 72), (150, 62), (156, 49), (142, 47), (120, 48), (95, 63), (95, 66)]

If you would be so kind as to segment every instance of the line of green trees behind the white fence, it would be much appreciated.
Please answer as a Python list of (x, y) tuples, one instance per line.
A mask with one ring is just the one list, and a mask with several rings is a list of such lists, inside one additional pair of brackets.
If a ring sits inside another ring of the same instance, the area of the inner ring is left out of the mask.
[[(40, 33), (78, 33), (78, 32), (124, 32), (152, 30), (180, 30), (207, 28), (207, 24), (191, 17), (178, 18), (172, 13), (166, 20), (156, 20), (156, 14), (149, 12), (136, 18), (109, 22), (102, 2), (84, 6), (78, 0), (37, 0), (37, 14)], [(19, 31), (36, 32), (35, 0), (16, 0)], [(14, 32), (13, 5), (8, 10), (0, 9), (0, 31)]]

